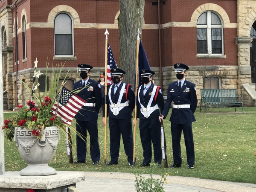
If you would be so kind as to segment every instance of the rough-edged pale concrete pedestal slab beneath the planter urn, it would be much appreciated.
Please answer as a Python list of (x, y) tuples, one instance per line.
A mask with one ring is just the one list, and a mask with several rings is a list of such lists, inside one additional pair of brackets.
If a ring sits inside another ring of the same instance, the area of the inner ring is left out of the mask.
[(0, 192), (68, 192), (71, 186), (84, 181), (84, 172), (56, 171), (55, 175), (21, 176), (20, 172), (5, 172), (0, 175)]

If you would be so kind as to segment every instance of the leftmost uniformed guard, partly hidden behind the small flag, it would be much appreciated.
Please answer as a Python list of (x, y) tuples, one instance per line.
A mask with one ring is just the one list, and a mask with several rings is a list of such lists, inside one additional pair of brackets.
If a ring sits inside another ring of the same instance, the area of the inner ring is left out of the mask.
[(76, 113), (76, 131), (82, 138), (76, 136), (77, 161), (75, 163), (85, 163), (87, 131), (90, 134), (90, 156), (93, 165), (99, 164), (99, 137), (98, 137), (98, 114), (102, 106), (102, 93), (99, 82), (90, 79), (90, 69), (93, 67), (88, 64), (79, 64), (81, 80), (74, 83), (75, 89), (82, 89), (77, 95), (87, 101), (78, 113)]

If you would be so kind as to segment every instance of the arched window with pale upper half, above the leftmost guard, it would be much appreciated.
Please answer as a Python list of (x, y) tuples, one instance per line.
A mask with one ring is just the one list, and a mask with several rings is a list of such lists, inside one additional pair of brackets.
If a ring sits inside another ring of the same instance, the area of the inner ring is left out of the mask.
[(54, 20), (55, 55), (73, 56), (73, 22), (69, 15), (60, 13)]

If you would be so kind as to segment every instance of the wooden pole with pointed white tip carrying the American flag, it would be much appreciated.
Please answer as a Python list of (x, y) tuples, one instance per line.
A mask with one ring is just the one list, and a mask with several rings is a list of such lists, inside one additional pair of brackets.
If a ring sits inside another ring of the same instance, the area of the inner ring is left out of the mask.
[(107, 86), (108, 86), (108, 29), (106, 29), (105, 41), (105, 146), (104, 146), (104, 162), (107, 160)]

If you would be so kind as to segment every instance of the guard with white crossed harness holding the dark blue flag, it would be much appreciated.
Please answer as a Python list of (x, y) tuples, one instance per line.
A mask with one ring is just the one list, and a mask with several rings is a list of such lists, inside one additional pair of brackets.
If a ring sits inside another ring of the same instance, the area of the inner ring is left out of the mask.
[[(140, 117), (140, 139), (143, 147), (143, 163), (141, 167), (150, 166), (152, 159), (151, 142), (154, 148), (154, 163), (161, 167), (162, 145), (161, 145), (161, 123), (158, 117), (160, 110), (163, 111), (164, 100), (160, 86), (154, 85), (154, 71), (140, 70), (142, 85), (138, 89), (137, 117)], [(160, 110), (159, 110), (160, 108)], [(137, 119), (134, 118), (134, 125)]]

